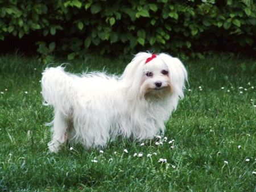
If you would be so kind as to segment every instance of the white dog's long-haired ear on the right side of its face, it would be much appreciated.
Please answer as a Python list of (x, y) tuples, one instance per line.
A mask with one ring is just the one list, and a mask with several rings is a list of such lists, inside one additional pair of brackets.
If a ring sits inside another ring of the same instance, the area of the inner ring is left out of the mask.
[(185, 87), (185, 81), (187, 81), (188, 74), (182, 62), (166, 53), (160, 53), (160, 59), (162, 59), (168, 66), (169, 77), (172, 88), (180, 98), (184, 97), (183, 89)]

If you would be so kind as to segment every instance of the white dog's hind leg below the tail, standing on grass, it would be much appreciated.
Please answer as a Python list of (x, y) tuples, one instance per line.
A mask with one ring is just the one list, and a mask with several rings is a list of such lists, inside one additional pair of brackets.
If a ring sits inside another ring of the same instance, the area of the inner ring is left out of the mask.
[(69, 119), (67, 116), (61, 114), (60, 111), (55, 111), (52, 127), (52, 140), (48, 143), (49, 151), (58, 152), (61, 145), (65, 144), (68, 140)]

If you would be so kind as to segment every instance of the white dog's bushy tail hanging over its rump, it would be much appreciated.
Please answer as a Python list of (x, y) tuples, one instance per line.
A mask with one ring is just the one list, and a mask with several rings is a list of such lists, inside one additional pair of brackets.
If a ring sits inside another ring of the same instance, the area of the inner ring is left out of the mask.
[(44, 70), (41, 81), (43, 105), (53, 106), (68, 115), (72, 106), (72, 82), (72, 75), (61, 66)]

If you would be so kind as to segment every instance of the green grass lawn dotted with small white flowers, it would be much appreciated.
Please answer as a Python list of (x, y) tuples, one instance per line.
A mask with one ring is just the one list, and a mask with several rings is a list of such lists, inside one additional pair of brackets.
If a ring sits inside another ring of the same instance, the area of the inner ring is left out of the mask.
[[(88, 56), (67, 70), (121, 74), (130, 59)], [(189, 84), (163, 145), (118, 138), (103, 153), (69, 144), (53, 154), (52, 108), (40, 95), (46, 65), (0, 56), (0, 191), (255, 191), (256, 61), (220, 54), (184, 65)]]

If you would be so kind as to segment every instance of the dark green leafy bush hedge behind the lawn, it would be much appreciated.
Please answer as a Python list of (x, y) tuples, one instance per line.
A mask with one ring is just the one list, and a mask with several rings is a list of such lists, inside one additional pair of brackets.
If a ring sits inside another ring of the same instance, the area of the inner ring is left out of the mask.
[(147, 49), (184, 57), (220, 46), (256, 47), (253, 0), (0, 0), (0, 7), (0, 40), (34, 36), (45, 57)]

